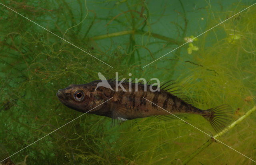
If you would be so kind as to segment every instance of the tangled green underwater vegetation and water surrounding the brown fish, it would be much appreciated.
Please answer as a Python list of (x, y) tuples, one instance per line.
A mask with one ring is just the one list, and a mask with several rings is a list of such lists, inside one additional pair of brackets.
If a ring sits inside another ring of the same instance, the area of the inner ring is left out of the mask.
[[(0, 3), (0, 143), (15, 164), (255, 163), (255, 1)], [(231, 105), (234, 122), (245, 116), (218, 140), (254, 161), (219, 141), (204, 145), (211, 138), (186, 123), (215, 136), (202, 116), (139, 118), (111, 127), (110, 118), (59, 102), (58, 89), (98, 80), (98, 72), (174, 79), (200, 109)]]

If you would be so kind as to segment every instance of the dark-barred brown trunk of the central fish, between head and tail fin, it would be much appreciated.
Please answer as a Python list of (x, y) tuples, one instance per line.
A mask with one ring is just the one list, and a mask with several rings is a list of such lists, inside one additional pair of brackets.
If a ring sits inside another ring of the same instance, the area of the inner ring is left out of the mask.
[(121, 114), (122, 116), (120, 116), (124, 119), (131, 120), (134, 118), (144, 118), (154, 115), (170, 115), (170, 113), (208, 113), (184, 102), (182, 99), (166, 92), (165, 90), (152, 92), (150, 91), (149, 86), (146, 86), (145, 92), (144, 85), (138, 85), (138, 91), (136, 92), (136, 84), (132, 84), (132, 91), (129, 92), (129, 84), (124, 83), (123, 86), (126, 89), (126, 92), (119, 87), (117, 92), (113, 92), (109, 95), (109, 97), (113, 97), (109, 104), (127, 109), (127, 113)]

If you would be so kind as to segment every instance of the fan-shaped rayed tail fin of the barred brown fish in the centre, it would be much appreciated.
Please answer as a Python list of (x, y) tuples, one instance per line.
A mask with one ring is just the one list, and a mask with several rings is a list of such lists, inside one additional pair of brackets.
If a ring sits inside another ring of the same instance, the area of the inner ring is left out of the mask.
[(211, 109), (208, 109), (208, 114), (202, 115), (210, 122), (216, 132), (220, 132), (231, 122), (231, 106), (224, 104)]

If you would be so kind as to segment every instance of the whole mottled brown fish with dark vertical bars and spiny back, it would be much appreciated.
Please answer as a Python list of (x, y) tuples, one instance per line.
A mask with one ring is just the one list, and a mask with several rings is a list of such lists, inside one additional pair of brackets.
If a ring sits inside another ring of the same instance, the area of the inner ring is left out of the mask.
[[(198, 114), (208, 120), (216, 132), (219, 132), (230, 123), (232, 118), (230, 114), (232, 108), (228, 104), (207, 110), (196, 108), (177, 92), (176, 82), (173, 80), (161, 86), (128, 81), (117, 82), (113, 79), (108, 80), (107, 83), (111, 88), (97, 86), (101, 83), (100, 80), (87, 84), (70, 84), (58, 90), (56, 95), (68, 108), (83, 113), (107, 116), (112, 118), (112, 122), (149, 116), (166, 120), (166, 117), (171, 114)], [(120, 83), (122, 86), (118, 85)]]

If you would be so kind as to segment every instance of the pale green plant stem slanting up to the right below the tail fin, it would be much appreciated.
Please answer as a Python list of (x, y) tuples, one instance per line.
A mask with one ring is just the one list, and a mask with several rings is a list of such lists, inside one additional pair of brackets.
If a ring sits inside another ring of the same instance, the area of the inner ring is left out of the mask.
[[(206, 141), (201, 147), (199, 147), (194, 153), (192, 153), (189, 157), (187, 157), (184, 161), (182, 161), (183, 165), (186, 165), (189, 161), (191, 161), (196, 155), (198, 155), (201, 151), (203, 151), (206, 147), (208, 147), (213, 141), (214, 139), (219, 138), (220, 136), (222, 136), (223, 134), (225, 134), (226, 132), (228, 132), (230, 129), (234, 128), (234, 126), (236, 126), (237, 124), (239, 124), (240, 122), (242, 122), (245, 118), (247, 118), (252, 112), (254, 112), (256, 110), (256, 106), (254, 106), (252, 109), (250, 109), (246, 114), (244, 114), (243, 116), (241, 116), (240, 118), (238, 118), (238, 120), (234, 121), (232, 124), (230, 124), (227, 128), (225, 128), (224, 130), (222, 130), (222, 132), (216, 134), (215, 136), (213, 136), (212, 138), (208, 139), (208, 141)], [(213, 139), (214, 138), (214, 139)]]

